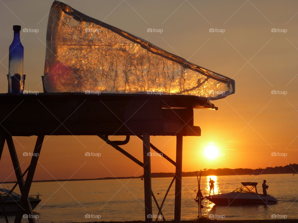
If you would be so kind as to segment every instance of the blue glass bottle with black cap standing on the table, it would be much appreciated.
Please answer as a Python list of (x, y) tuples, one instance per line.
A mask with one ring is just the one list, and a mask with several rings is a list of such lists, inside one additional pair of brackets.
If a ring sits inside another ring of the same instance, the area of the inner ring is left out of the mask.
[(24, 46), (20, 41), (20, 30), (21, 26), (13, 26), (13, 41), (9, 46), (8, 93), (23, 93), (24, 90)]

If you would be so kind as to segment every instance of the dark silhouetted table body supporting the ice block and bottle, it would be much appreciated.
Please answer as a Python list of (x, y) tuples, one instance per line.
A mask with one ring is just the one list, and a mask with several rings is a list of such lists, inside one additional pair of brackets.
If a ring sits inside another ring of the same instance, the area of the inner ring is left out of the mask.
[(0, 131), (30, 135), (199, 136), (193, 108), (217, 109), (206, 98), (151, 94), (0, 94)]

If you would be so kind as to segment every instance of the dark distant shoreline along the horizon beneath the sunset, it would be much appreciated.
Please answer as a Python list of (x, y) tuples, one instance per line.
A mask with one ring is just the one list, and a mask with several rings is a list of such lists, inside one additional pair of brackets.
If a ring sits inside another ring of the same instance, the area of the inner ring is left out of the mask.
[[(196, 172), (183, 172), (182, 177), (195, 177)], [(204, 169), (202, 171), (202, 176), (234, 176), (234, 175), (260, 175), (260, 174), (298, 174), (298, 164), (290, 164), (287, 166), (280, 167), (267, 167), (265, 169)], [(161, 177), (174, 177), (174, 173), (151, 173), (151, 178), (161, 178)], [(92, 178), (92, 179), (61, 179), (61, 180), (35, 180), (32, 182), (55, 182), (55, 181), (86, 181), (86, 180), (115, 180), (115, 179), (141, 179), (142, 176), (139, 177), (103, 177), (103, 178)], [(7, 181), (0, 182), (1, 184), (5, 183), (16, 183), (17, 181)]]

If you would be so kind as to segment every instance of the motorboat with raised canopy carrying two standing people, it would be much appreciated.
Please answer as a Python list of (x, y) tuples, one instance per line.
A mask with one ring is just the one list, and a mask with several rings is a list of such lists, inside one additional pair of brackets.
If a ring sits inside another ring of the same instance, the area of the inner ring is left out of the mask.
[(228, 193), (209, 195), (205, 198), (217, 205), (274, 204), (277, 199), (271, 195), (258, 194), (257, 182), (241, 182), (242, 187)]

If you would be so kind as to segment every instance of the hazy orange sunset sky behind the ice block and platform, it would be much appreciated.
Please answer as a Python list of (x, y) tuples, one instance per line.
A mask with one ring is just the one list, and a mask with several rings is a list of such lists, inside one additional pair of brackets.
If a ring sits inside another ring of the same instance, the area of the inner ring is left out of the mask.
[[(195, 125), (201, 127), (202, 135), (183, 138), (183, 171), (297, 163), (297, 1), (64, 2), (236, 81), (235, 94), (213, 102), (218, 111), (194, 110)], [(51, 4), (52, 0), (0, 2), (1, 93), (7, 93), (7, 54), (13, 38), (12, 25), (16, 24), (22, 29), (39, 31), (20, 35), (25, 48), (25, 90), (43, 92), (40, 76)], [(148, 33), (148, 28), (163, 29), (163, 32)], [(224, 32), (210, 32), (210, 28), (224, 29)], [(272, 94), (274, 90), (286, 93)], [(33, 151), (36, 137), (14, 140), (24, 171), (30, 157), (23, 153)], [(175, 159), (174, 137), (151, 137), (151, 142)], [(219, 150), (219, 156), (213, 160), (204, 155), (210, 142)], [(122, 147), (142, 160), (142, 142), (137, 137)], [(85, 152), (98, 152), (101, 156), (86, 157)], [(287, 156), (274, 157), (272, 152), (287, 153)], [(151, 161), (151, 172), (174, 171), (174, 166), (161, 157), (152, 157)], [(15, 180), (7, 145), (0, 168), (0, 181)], [(45, 136), (34, 180), (140, 176), (142, 173), (141, 167), (103, 144), (98, 137)]]

